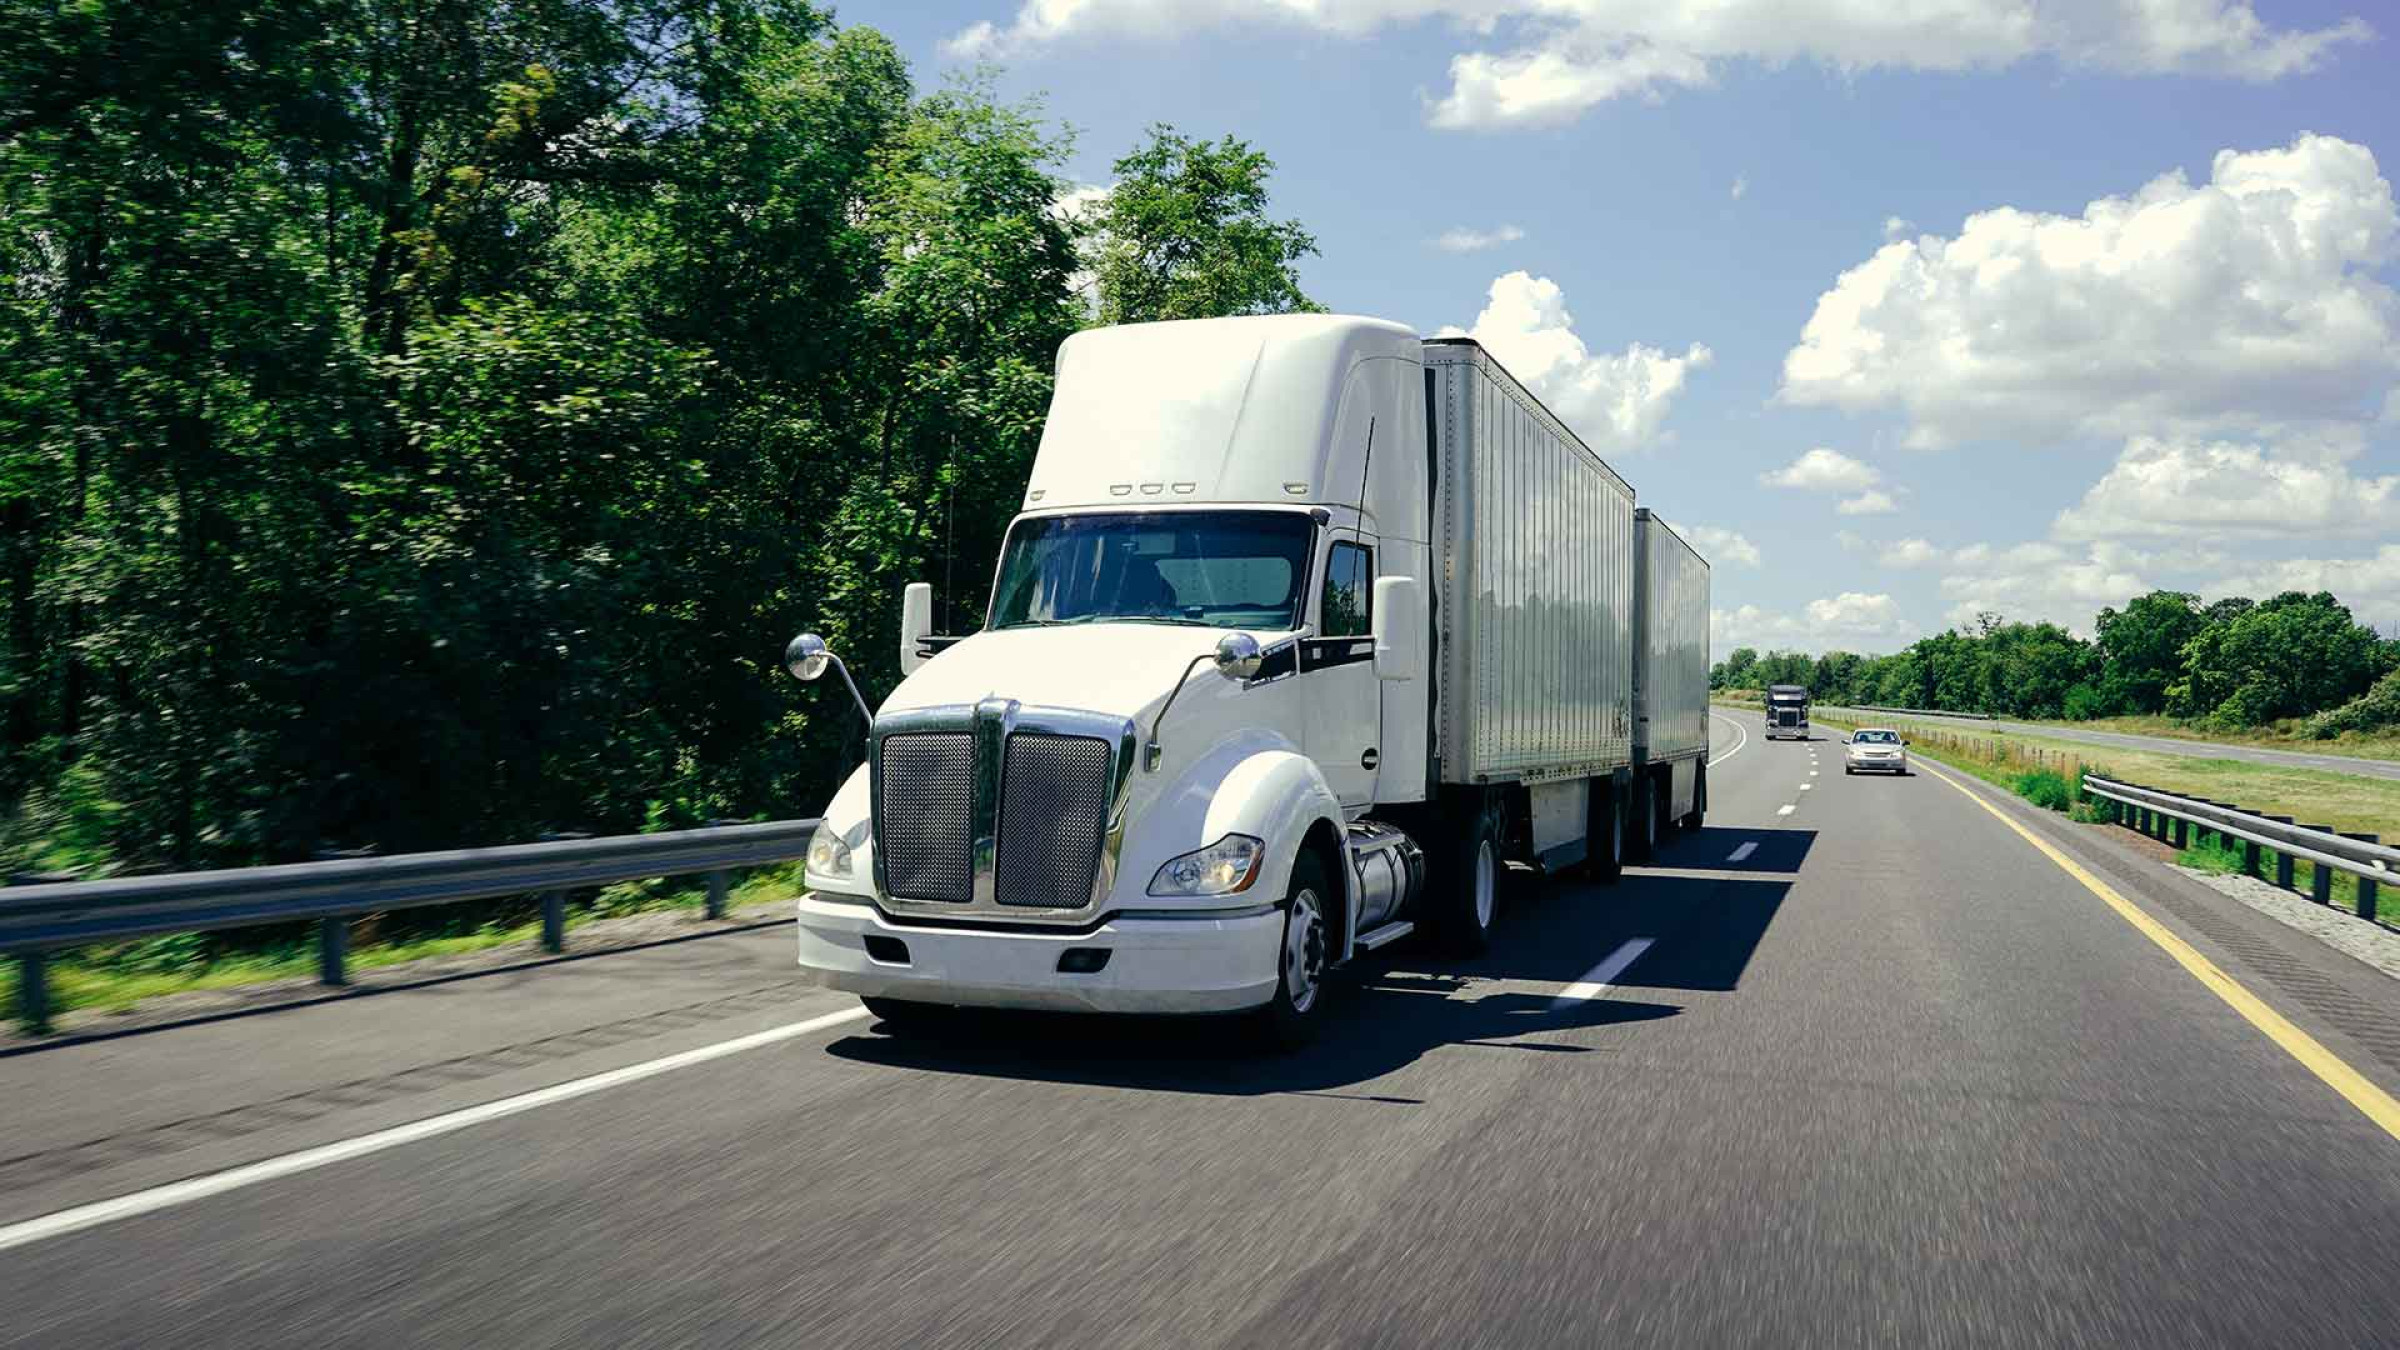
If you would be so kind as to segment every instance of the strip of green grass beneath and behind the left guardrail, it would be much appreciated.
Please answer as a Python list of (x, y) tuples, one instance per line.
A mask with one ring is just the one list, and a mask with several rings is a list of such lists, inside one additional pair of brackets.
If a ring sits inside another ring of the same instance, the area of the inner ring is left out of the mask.
[[(802, 865), (761, 867), (744, 877), (727, 903), (746, 906), (792, 896), (802, 889)], [(566, 903), (566, 932), (634, 913), (701, 910), (708, 886), (674, 877), (626, 882), (578, 894)], [(456, 913), (432, 920), (434, 932), (379, 934), (384, 915), (350, 920), (350, 968), (374, 970), (430, 956), (458, 956), (533, 942), (542, 934), (533, 898), (475, 901), (451, 906)], [(569, 937), (574, 951), (574, 937)], [(50, 954), (50, 1009), (115, 1011), (161, 994), (230, 990), (266, 980), (305, 980), (317, 975), (314, 925), (276, 925), (271, 930), (178, 932), (137, 942), (72, 946)], [(14, 1011), (17, 963), (0, 961), (0, 1006)]]

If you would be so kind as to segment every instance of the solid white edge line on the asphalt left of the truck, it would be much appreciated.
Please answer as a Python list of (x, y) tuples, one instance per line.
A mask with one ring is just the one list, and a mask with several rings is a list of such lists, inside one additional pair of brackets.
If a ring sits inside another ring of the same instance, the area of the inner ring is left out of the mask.
[(547, 1088), (535, 1088), (530, 1093), (518, 1093), (514, 1098), (499, 1098), (497, 1103), (482, 1103), (475, 1107), (432, 1115), (408, 1124), (396, 1124), (391, 1129), (377, 1129), (372, 1134), (360, 1134), (358, 1139), (319, 1143), (317, 1148), (302, 1148), (298, 1153), (286, 1153), (281, 1158), (266, 1158), (264, 1163), (247, 1163), (242, 1167), (209, 1172), (206, 1177), (192, 1177), (185, 1182), (170, 1182), (166, 1187), (151, 1187), (146, 1191), (132, 1191), (113, 1201), (94, 1201), (86, 1206), (62, 1208), (58, 1213), (46, 1213), (41, 1218), (29, 1218), (24, 1223), (10, 1223), (0, 1227), (0, 1252), (7, 1252), (10, 1247), (24, 1247), (29, 1242), (41, 1242), (46, 1237), (65, 1237), (70, 1232), (82, 1232), (86, 1227), (115, 1223), (120, 1218), (134, 1218), (163, 1208), (175, 1208), (206, 1196), (221, 1196), (226, 1191), (238, 1191), (242, 1187), (254, 1187), (259, 1182), (274, 1182), (278, 1177), (312, 1172), (331, 1163), (365, 1158), (367, 1153), (382, 1153), (386, 1148), (398, 1148), (401, 1143), (434, 1139), (437, 1134), (454, 1134), (468, 1129), (470, 1124), (482, 1124), (490, 1119), (502, 1119), (535, 1107), (547, 1107), (552, 1103), (586, 1098), (590, 1093), (605, 1093), (624, 1083), (638, 1083), (641, 1079), (655, 1079), (660, 1074), (689, 1069), (691, 1064), (725, 1059), (727, 1055), (742, 1055), (744, 1050), (758, 1050), (761, 1045), (775, 1045), (778, 1040), (792, 1040), (799, 1035), (809, 1035), (811, 1031), (826, 1031), (828, 1026), (859, 1021), (864, 1016), (866, 1009), (859, 1006), (859, 1009), (842, 1009), (823, 1016), (811, 1016), (806, 1021), (792, 1021), (785, 1026), (770, 1026), (766, 1031), (754, 1031), (749, 1035), (737, 1035), (732, 1040), (720, 1040), (715, 1045), (701, 1045), (698, 1050), (684, 1050), (679, 1055), (665, 1055), (660, 1059), (626, 1064), (624, 1069), (610, 1069), (605, 1074), (593, 1074), (588, 1079), (571, 1079), (566, 1083), (552, 1083)]

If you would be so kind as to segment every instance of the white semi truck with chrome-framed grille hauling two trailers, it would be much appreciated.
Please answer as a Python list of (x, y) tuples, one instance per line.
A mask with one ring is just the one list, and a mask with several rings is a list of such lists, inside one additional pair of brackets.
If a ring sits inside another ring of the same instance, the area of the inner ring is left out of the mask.
[[(1332, 315), (1075, 334), (982, 632), (934, 637), (907, 586), (905, 680), (809, 848), (799, 963), (893, 1026), (1250, 1011), (1298, 1040), (1356, 954), (1481, 949), (1510, 862), (1613, 879), (1637, 805), (1699, 822), (1706, 565), (1685, 548), (1644, 591), (1639, 528), (1474, 341)], [(850, 677), (814, 634), (787, 663)]]

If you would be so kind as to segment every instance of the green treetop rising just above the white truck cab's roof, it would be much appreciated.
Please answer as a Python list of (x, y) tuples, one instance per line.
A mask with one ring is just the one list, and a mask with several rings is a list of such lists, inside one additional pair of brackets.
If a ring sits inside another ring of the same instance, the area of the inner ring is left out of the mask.
[(1318, 252), (1298, 221), (1267, 216), (1274, 161), (1248, 142), (1202, 142), (1157, 125), (1114, 166), (1092, 211), (1099, 322), (1320, 310), (1298, 262)]

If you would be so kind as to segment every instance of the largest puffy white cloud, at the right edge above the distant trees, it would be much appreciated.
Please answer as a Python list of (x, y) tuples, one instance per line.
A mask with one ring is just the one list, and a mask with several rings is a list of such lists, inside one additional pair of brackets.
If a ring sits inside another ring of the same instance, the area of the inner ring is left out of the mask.
[(1898, 408), (1920, 447), (2364, 423), (2400, 380), (2395, 240), (2376, 156), (2316, 135), (2081, 216), (1980, 211), (1843, 271), (1781, 399)]

